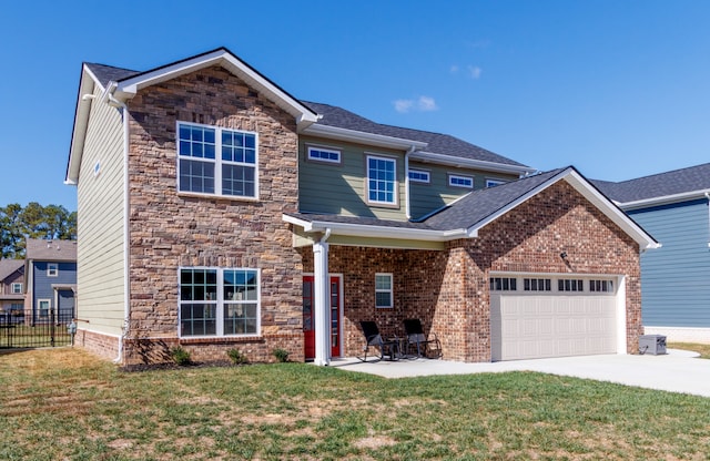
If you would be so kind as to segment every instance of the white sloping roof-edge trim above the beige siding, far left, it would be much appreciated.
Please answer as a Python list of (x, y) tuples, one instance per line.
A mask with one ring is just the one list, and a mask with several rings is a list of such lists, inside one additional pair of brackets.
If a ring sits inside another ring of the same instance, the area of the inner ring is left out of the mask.
[(89, 114), (92, 101), (82, 100), (84, 94), (93, 94), (95, 88), (103, 91), (99, 79), (91, 72), (87, 64), (83, 64), (81, 81), (79, 82), (79, 94), (77, 95), (77, 109), (74, 111), (74, 126), (71, 134), (71, 146), (69, 147), (69, 160), (67, 162), (67, 175), (64, 184), (75, 185), (79, 181), (79, 167), (81, 156), (84, 151), (87, 129), (89, 127)]

